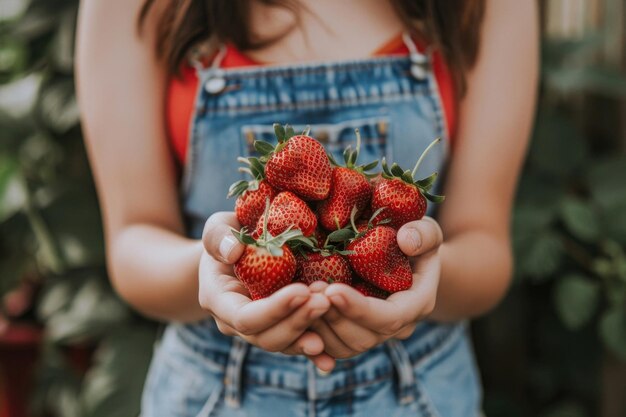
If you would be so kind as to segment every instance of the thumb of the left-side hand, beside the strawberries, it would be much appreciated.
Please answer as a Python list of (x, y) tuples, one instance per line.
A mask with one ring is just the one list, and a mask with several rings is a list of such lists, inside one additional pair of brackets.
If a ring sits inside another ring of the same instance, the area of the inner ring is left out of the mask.
[(237, 262), (244, 250), (231, 228), (239, 230), (235, 213), (221, 211), (213, 214), (204, 224), (202, 243), (206, 251), (215, 259), (227, 264)]

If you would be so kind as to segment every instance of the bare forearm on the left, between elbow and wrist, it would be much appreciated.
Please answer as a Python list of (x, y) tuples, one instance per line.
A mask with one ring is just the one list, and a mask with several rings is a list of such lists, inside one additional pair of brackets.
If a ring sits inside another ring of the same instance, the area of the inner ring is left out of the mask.
[(198, 303), (202, 242), (167, 229), (136, 224), (109, 244), (111, 281), (129, 304), (160, 320), (195, 321), (208, 316)]

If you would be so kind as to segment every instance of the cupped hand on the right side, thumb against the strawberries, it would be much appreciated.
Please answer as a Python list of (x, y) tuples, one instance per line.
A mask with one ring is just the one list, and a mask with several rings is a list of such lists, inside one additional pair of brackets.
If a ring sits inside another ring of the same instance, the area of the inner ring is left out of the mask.
[(398, 245), (410, 257), (413, 285), (386, 300), (364, 297), (345, 284), (321, 285), (332, 306), (313, 324), (324, 340), (325, 352), (334, 358), (349, 358), (390, 338), (406, 339), (417, 323), (432, 313), (437, 298), (443, 234), (430, 217), (405, 224), (398, 231)]

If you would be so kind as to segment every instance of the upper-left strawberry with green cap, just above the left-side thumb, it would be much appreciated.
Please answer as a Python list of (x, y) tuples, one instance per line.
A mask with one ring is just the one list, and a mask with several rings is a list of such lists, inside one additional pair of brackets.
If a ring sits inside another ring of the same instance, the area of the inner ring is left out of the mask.
[(247, 172), (253, 179), (237, 181), (231, 185), (228, 197), (238, 196), (235, 202), (237, 220), (247, 230), (254, 230), (263, 215), (265, 200), (269, 198), (272, 201), (278, 191), (264, 179), (264, 166), (258, 158), (238, 158), (238, 160), (250, 165), (240, 168), (240, 171)]

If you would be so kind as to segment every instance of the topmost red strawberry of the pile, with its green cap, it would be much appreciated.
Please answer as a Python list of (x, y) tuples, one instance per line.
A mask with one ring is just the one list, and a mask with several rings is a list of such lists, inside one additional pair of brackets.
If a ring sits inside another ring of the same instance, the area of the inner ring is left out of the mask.
[(331, 166), (321, 143), (295, 135), (290, 126), (274, 125), (278, 145), (255, 141), (254, 147), (266, 162), (267, 181), (277, 190), (292, 191), (307, 200), (323, 200), (330, 192)]

